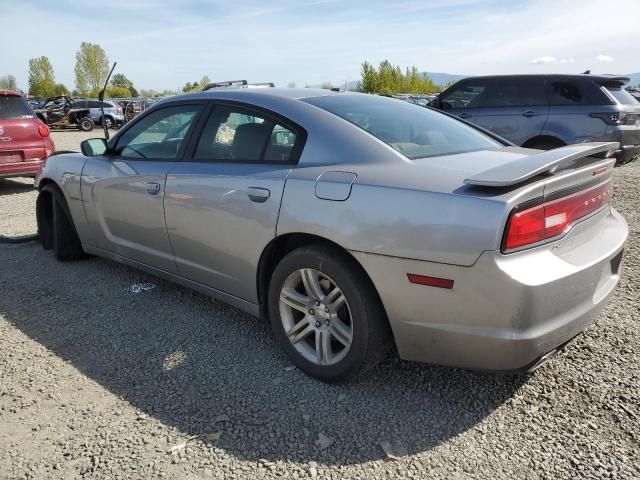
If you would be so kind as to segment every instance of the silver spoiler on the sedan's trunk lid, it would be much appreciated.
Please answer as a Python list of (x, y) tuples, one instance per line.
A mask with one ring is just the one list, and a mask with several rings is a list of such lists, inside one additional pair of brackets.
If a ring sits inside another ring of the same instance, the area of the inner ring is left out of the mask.
[(618, 142), (593, 142), (567, 145), (528, 157), (520, 158), (499, 167), (478, 173), (465, 179), (467, 185), (483, 187), (508, 187), (542, 173), (553, 173), (562, 165), (582, 157), (617, 150)]

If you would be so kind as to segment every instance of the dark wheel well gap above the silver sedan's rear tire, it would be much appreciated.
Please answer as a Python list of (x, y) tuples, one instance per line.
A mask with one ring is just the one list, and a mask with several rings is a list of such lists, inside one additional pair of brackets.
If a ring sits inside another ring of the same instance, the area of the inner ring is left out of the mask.
[[(353, 261), (354, 266), (364, 273), (366, 278), (369, 280), (371, 288), (379, 297), (379, 294), (366, 270), (347, 249), (318, 235), (312, 235), (309, 233), (287, 233), (271, 240), (263, 250), (262, 255), (260, 256), (260, 261), (258, 262), (256, 286), (258, 291), (260, 316), (262, 318), (268, 317), (267, 305), (269, 302), (267, 297), (269, 292), (269, 281), (271, 280), (271, 275), (273, 274), (276, 266), (289, 252), (309, 245), (324, 245), (345, 253)], [(382, 302), (380, 302), (380, 304), (382, 305)]]

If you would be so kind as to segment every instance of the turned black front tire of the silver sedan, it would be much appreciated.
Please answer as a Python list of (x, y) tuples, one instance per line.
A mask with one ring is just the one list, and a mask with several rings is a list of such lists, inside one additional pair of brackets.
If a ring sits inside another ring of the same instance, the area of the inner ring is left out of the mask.
[[(40, 199), (42, 195), (50, 195), (48, 204), (44, 197)], [(45, 249), (53, 248), (58, 260), (77, 260), (83, 257), (84, 250), (62, 192), (53, 184), (45, 185), (38, 196), (38, 202), (40, 201), (43, 202), (43, 209), (38, 212), (38, 233), (42, 246)], [(47, 207), (50, 208), (49, 212), (45, 210)], [(46, 220), (48, 216), (50, 221)]]

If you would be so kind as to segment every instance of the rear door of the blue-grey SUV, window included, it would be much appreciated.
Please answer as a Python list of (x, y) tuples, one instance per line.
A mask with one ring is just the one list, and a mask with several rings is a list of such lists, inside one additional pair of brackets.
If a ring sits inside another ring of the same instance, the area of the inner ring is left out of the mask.
[(478, 103), (475, 123), (516, 145), (540, 135), (549, 115), (540, 77), (495, 77)]

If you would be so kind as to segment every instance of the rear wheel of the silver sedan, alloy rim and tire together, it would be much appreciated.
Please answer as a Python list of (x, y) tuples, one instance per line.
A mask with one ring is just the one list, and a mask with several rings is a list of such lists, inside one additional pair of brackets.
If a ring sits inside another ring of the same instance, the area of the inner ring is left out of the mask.
[[(315, 275), (318, 288), (307, 288), (313, 281), (306, 275)], [(339, 302), (336, 295), (344, 299)], [(360, 265), (337, 248), (311, 245), (289, 253), (273, 272), (268, 298), (276, 340), (300, 370), (318, 380), (353, 379), (390, 349), (389, 323), (375, 288)], [(283, 298), (300, 303), (292, 307)]]

